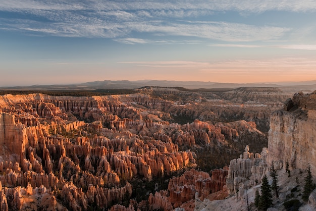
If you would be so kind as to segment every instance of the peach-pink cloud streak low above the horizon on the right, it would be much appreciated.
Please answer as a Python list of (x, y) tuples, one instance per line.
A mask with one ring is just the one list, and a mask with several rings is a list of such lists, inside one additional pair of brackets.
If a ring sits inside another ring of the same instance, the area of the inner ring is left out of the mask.
[[(249, 83), (264, 81), (297, 81), (316, 77), (316, 57), (285, 57), (266, 60), (214, 61), (134, 61), (121, 62), (131, 69), (170, 73), (186, 79)], [(187, 77), (189, 75), (189, 78)], [(159, 76), (157, 76), (159, 77)]]

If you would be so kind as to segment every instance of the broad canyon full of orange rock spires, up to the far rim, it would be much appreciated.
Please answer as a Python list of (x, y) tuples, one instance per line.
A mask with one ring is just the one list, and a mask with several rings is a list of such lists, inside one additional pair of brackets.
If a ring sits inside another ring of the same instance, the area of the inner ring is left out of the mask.
[(304, 169), (303, 148), (311, 144), (313, 154), (314, 93), (290, 97), (251, 87), (1, 95), (0, 210), (198, 210), (229, 195), (242, 201), (272, 161)]

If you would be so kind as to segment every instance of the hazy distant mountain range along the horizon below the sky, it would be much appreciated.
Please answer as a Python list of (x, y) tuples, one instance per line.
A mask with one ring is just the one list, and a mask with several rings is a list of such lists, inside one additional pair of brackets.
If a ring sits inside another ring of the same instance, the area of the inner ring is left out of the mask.
[(93, 81), (80, 84), (68, 85), (33, 85), (2, 87), (1, 89), (32, 89), (32, 90), (78, 90), (78, 89), (135, 89), (144, 86), (183, 87), (186, 89), (215, 89), (215, 88), (238, 88), (238, 87), (282, 87), (299, 88), (299, 90), (315, 90), (316, 80), (301, 82), (273, 82), (273, 83), (218, 83), (202, 81), (167, 81), (167, 80), (138, 80), (138, 81)]

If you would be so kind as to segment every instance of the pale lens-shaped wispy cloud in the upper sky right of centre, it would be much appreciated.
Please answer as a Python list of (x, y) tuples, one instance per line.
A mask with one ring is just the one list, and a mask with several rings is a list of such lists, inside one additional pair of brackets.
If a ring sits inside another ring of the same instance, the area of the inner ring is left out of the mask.
[(223, 41), (274, 40), (282, 37), (288, 28), (253, 26), (228, 22), (161, 23), (141, 22), (129, 25), (138, 32), (163, 33), (165, 35), (199, 37)]

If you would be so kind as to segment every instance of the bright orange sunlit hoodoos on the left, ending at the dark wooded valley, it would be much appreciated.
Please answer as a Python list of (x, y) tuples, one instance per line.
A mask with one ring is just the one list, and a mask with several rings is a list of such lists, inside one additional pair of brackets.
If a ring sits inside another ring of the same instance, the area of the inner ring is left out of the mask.
[[(121, 98), (148, 100), (137, 95)], [(193, 152), (179, 151), (172, 137), (158, 133), (179, 125), (115, 96), (4, 95), (0, 112), (3, 210), (24, 209), (25, 195), (36, 208), (45, 203), (54, 209), (86, 210), (91, 204), (110, 208), (130, 197), (132, 185), (127, 181), (135, 176), (151, 181), (195, 166)], [(195, 144), (194, 137), (185, 137), (178, 141)]]

